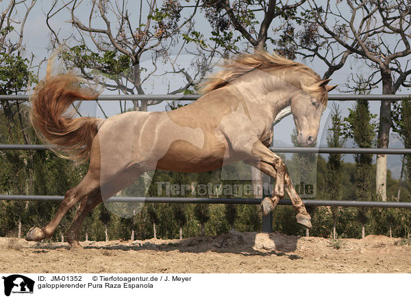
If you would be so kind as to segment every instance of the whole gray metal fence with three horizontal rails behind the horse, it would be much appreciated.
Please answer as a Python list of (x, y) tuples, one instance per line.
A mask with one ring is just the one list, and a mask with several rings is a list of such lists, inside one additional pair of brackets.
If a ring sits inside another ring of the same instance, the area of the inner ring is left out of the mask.
[[(147, 95), (101, 95), (97, 100), (197, 100), (197, 94), (147, 94)], [(403, 95), (344, 95), (329, 94), (329, 100), (403, 100), (410, 99)], [(0, 100), (27, 101), (27, 95), (0, 95)], [(381, 149), (381, 148), (270, 148), (273, 152), (282, 153), (341, 153), (341, 154), (411, 154), (411, 148), (405, 149)], [(0, 144), (0, 150), (49, 150), (44, 145), (17, 145)], [(62, 201), (63, 196), (58, 195), (0, 195), (0, 200), (23, 201)], [(140, 203), (194, 203), (194, 204), (260, 204), (262, 199), (249, 198), (142, 198), (142, 197), (113, 197), (108, 202), (140, 202)], [(372, 202), (372, 201), (336, 201), (336, 200), (303, 200), (306, 206), (342, 206), (342, 207), (369, 207), (369, 208), (411, 208), (411, 202)], [(279, 205), (291, 205), (290, 200), (280, 200)], [(271, 232), (272, 214), (263, 218), (263, 231)]]

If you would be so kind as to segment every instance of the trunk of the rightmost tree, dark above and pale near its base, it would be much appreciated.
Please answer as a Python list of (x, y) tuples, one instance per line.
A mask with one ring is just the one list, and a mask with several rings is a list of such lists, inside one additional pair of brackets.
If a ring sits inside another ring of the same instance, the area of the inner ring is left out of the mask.
[[(386, 65), (386, 69), (381, 70), (381, 77), (382, 94), (392, 94), (391, 87), (393, 86), (393, 79), (388, 64)], [(382, 100), (381, 106), (379, 107), (378, 148), (388, 148), (391, 122), (391, 102), (390, 100)], [(377, 198), (385, 202), (387, 200), (386, 154), (377, 154), (375, 182), (377, 186)]]

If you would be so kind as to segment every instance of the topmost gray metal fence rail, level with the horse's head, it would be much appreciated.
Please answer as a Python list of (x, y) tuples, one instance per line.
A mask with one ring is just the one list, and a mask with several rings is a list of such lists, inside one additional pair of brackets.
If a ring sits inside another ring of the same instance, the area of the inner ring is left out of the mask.
[[(97, 100), (197, 100), (199, 94), (105, 94), (100, 95)], [(328, 100), (347, 101), (347, 100), (403, 100), (408, 98), (408, 94), (369, 94), (369, 95), (353, 95), (353, 94), (329, 94)], [(0, 95), (0, 100), (29, 100), (28, 95)]]

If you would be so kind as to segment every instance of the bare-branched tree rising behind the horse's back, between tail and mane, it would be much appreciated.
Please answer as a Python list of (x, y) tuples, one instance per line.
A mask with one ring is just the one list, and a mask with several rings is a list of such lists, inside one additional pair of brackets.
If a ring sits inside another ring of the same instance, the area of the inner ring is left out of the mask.
[[(129, 12), (127, 1), (55, 1), (47, 13), (47, 25), (51, 30), (54, 47), (66, 44), (64, 60), (82, 71), (86, 79), (95, 79), (96, 71), (108, 81), (99, 81), (108, 90), (121, 94), (145, 94), (145, 83), (153, 77), (178, 74), (181, 85), (168, 87), (169, 94), (178, 94), (192, 87), (199, 77), (210, 68), (210, 61), (201, 64), (204, 58), (196, 55), (196, 67), (188, 69), (179, 64), (187, 35), (195, 25), (198, 1), (183, 7), (177, 0), (139, 1), (138, 10)], [(138, 3), (137, 1), (134, 4)], [(88, 18), (82, 20), (84, 12)], [(61, 17), (69, 12), (70, 22), (75, 29), (71, 36), (62, 38), (62, 33), (51, 26), (51, 18)], [(171, 52), (177, 53), (171, 56)], [(207, 57), (206, 57), (207, 58)], [(142, 62), (151, 60), (151, 68), (144, 68)], [(158, 65), (166, 62), (171, 69), (159, 70)], [(205, 70), (205, 68), (206, 70)], [(148, 85), (148, 84), (147, 84)], [(147, 106), (160, 103), (159, 100), (134, 101), (134, 109), (147, 111)], [(122, 109), (123, 111), (123, 109)]]

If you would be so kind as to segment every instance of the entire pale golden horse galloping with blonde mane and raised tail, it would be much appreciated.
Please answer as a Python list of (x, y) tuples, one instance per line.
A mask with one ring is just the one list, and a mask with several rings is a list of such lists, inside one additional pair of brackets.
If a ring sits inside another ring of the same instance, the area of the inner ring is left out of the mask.
[(311, 217), (292, 186), (286, 165), (267, 147), (273, 121), (290, 106), (302, 146), (316, 141), (327, 105), (329, 79), (279, 55), (256, 51), (239, 55), (208, 78), (204, 95), (173, 111), (131, 111), (102, 120), (75, 118), (67, 109), (74, 100), (92, 100), (97, 92), (82, 87), (69, 72), (41, 81), (32, 96), (32, 124), (61, 154), (90, 166), (83, 180), (66, 192), (55, 217), (44, 228), (32, 228), (27, 240), (51, 236), (62, 217), (80, 202), (66, 239), (79, 246), (84, 217), (103, 200), (148, 170), (203, 172), (245, 161), (276, 179), (263, 213), (284, 197), (284, 187), (297, 211), (297, 222), (311, 228)]

